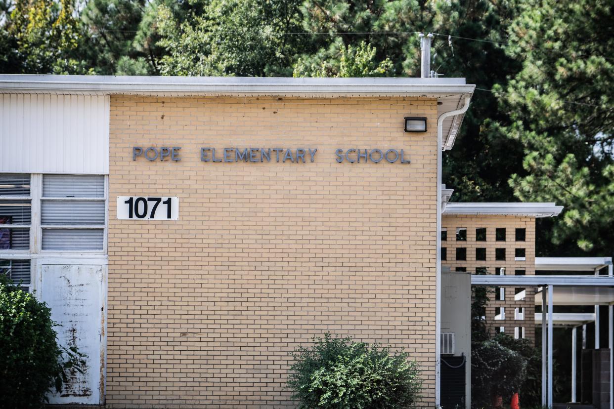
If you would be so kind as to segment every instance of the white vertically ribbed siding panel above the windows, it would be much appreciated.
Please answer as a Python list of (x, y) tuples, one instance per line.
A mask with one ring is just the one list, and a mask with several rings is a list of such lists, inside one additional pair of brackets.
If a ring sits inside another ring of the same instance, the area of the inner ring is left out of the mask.
[(0, 94), (0, 172), (108, 174), (109, 97)]

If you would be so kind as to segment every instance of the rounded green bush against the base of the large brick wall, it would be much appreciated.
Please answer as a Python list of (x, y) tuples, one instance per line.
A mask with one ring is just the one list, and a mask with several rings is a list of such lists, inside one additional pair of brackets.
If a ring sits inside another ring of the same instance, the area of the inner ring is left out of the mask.
[(327, 333), (292, 356), (288, 386), (299, 408), (407, 408), (422, 389), (418, 364), (408, 353), (379, 344)]

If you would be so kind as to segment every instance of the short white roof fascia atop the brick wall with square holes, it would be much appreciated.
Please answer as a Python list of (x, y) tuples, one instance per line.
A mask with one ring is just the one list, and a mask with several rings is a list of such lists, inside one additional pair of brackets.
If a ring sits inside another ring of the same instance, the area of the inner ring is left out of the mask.
[(554, 202), (532, 203), (448, 203), (444, 215), (504, 215), (552, 217), (563, 210)]

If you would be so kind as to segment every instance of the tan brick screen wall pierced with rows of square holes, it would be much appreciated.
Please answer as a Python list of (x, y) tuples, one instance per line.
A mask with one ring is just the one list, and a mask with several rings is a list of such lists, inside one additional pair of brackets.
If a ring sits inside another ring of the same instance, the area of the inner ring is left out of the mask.
[[(526, 275), (535, 275), (535, 218), (497, 215), (446, 215), (441, 218), (441, 227), (447, 229), (448, 240), (441, 241), (441, 247), (447, 248), (448, 256), (442, 266), (452, 271), (465, 267), (468, 273), (475, 273), (476, 268), (486, 267), (489, 274), (494, 274), (497, 267), (505, 268), (505, 275), (514, 275), (516, 270), (525, 270)], [(467, 241), (456, 240), (456, 229), (467, 229)], [(476, 241), (476, 229), (486, 228), (486, 242)], [(505, 228), (505, 241), (495, 240), (495, 229)], [(526, 229), (524, 242), (516, 242), (516, 228)], [(467, 261), (456, 260), (456, 248), (467, 248)], [(476, 248), (486, 248), (486, 261), (476, 260)], [(495, 260), (495, 249), (505, 248), (505, 261)], [(524, 248), (525, 261), (515, 261), (516, 248)], [(523, 300), (515, 300), (515, 288), (505, 288), (505, 300), (495, 300), (494, 291), (489, 294), (486, 306), (486, 326), (494, 333), (499, 327), (505, 327), (505, 333), (514, 335), (515, 327), (524, 327), (525, 337), (535, 342), (535, 289), (527, 288)], [(495, 307), (505, 308), (505, 319), (495, 321)], [(524, 308), (524, 320), (515, 319), (515, 308)]]

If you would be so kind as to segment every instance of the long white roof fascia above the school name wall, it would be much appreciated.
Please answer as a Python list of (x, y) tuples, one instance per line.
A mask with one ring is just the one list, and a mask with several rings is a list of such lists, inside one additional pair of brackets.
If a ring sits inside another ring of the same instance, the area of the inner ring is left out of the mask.
[(465, 78), (150, 77), (0, 74), (0, 93), (147, 96), (398, 96), (473, 94)]

